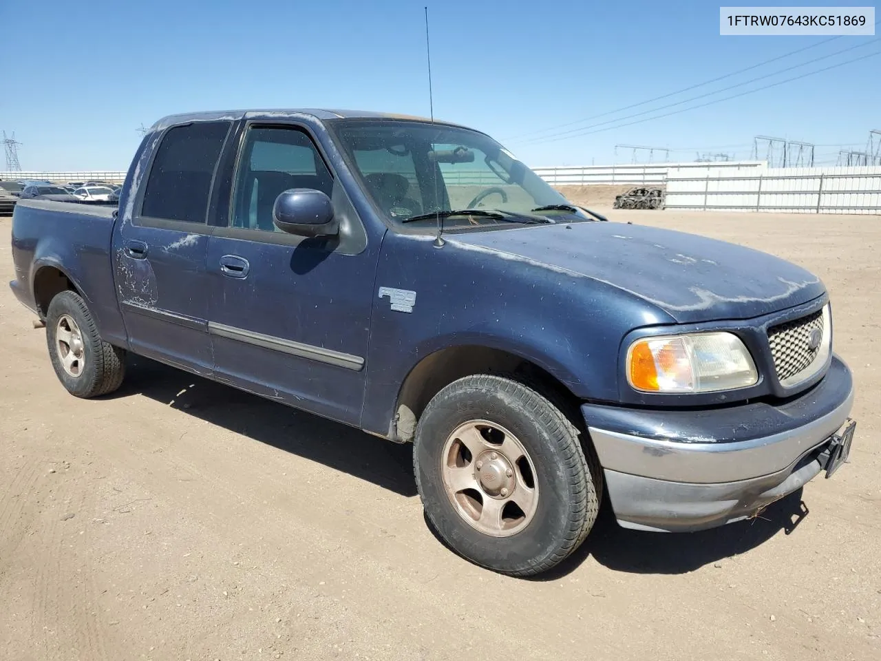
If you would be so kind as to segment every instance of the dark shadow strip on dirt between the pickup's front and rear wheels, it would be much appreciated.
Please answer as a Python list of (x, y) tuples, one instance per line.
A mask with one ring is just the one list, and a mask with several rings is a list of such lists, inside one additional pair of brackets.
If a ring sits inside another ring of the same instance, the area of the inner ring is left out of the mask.
[(417, 495), (411, 446), (398, 445), (317, 415), (131, 356), (122, 388), (196, 418), (324, 464), (407, 497)]

